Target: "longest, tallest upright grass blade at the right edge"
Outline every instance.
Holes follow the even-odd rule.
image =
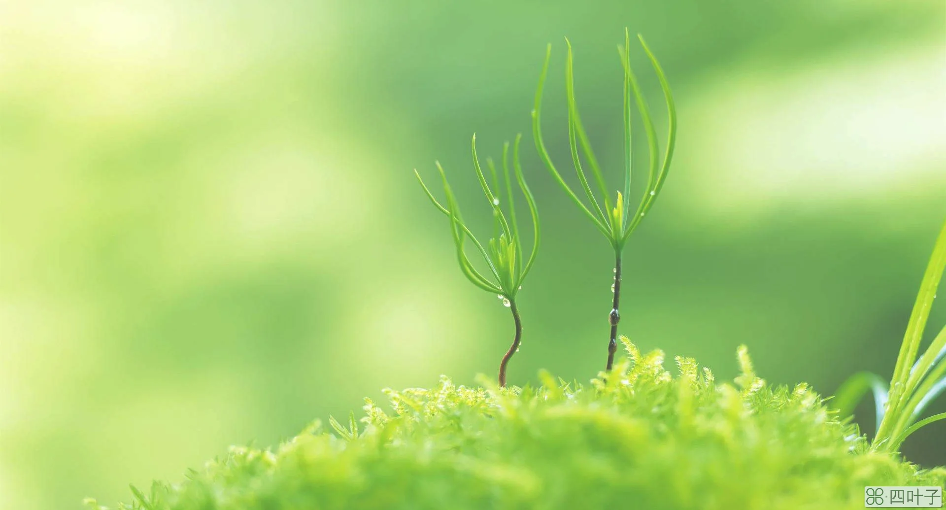
[[[902,407],[904,403],[902,397],[909,397],[909,370],[917,359],[923,330],[926,327],[927,319],[929,319],[930,309],[933,308],[933,299],[936,296],[944,268],[946,268],[946,222],[943,222],[942,230],[939,232],[936,245],[933,248],[933,255],[930,257],[930,262],[923,273],[920,292],[917,294],[917,301],[910,313],[910,321],[906,326],[900,354],[897,356],[890,395],[891,403],[896,406],[895,410],[899,411],[899,408]]]

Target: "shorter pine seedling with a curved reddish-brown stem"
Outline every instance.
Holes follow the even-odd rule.
[[[503,213],[502,208],[499,206],[501,186],[499,184],[496,166],[493,164],[492,160],[486,161],[493,178],[493,188],[496,189],[496,193],[494,193],[493,189],[486,183],[486,177],[480,166],[480,158],[477,155],[476,134],[473,134],[473,167],[476,170],[482,191],[486,195],[486,200],[493,210],[493,237],[490,238],[487,243],[488,248],[482,246],[480,241],[473,236],[473,233],[464,223],[463,217],[460,214],[460,206],[457,204],[456,197],[453,195],[450,185],[447,184],[447,175],[444,173],[444,168],[440,166],[440,162],[436,162],[436,166],[437,170],[440,171],[441,179],[444,181],[447,207],[437,202],[437,199],[430,193],[427,185],[424,185],[424,180],[421,179],[420,174],[416,169],[414,170],[414,175],[417,176],[417,181],[420,183],[421,187],[424,188],[424,192],[427,193],[430,202],[433,202],[434,206],[450,219],[450,234],[456,245],[460,269],[463,271],[466,278],[480,289],[497,294],[497,297],[502,300],[502,304],[513,313],[513,320],[516,323],[516,336],[513,339],[513,344],[509,347],[505,356],[502,357],[502,361],[499,362],[499,386],[503,387],[506,385],[506,366],[509,364],[509,360],[518,351],[519,343],[522,341],[522,322],[519,318],[519,311],[516,306],[516,295],[518,291],[522,289],[522,282],[525,280],[529,270],[532,269],[535,255],[538,253],[539,244],[538,209],[535,207],[535,199],[532,191],[529,190],[529,185],[526,184],[525,177],[522,175],[522,166],[519,164],[519,141],[521,139],[521,134],[516,136],[516,143],[513,146],[513,167],[516,173],[517,183],[522,194],[525,196],[526,203],[529,205],[529,212],[533,220],[534,241],[532,253],[529,255],[528,260],[526,260],[526,255],[522,251],[522,237],[519,235],[518,222],[516,219],[516,203],[513,196],[513,186],[509,177],[509,142],[506,142],[502,147],[502,175],[507,195],[505,200],[509,202],[509,220],[507,220],[505,213]],[[464,251],[464,240],[466,237],[469,237],[470,240],[473,241],[473,245],[476,246],[477,251],[485,260],[486,267],[489,269],[488,276],[478,271],[470,262],[469,257],[466,256]]]

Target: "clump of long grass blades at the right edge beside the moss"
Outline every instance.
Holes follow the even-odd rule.
[[[919,360],[917,358],[944,268],[946,222],[939,232],[933,255],[923,274],[920,293],[910,314],[890,383],[887,384],[876,374],[860,372],[838,388],[833,407],[842,416],[849,416],[867,391],[873,391],[877,433],[871,448],[875,450],[898,451],[910,434],[935,421],[946,419],[946,413],[939,413],[918,421],[926,406],[946,391],[946,326],[939,330]]]

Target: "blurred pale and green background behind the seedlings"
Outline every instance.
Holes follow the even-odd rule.
[[[739,343],[825,394],[888,377],[946,217],[941,0],[0,2],[0,508],[112,504],[385,386],[495,377],[508,310],[412,175],[443,162],[487,234],[472,132],[482,156],[526,133],[543,218],[510,381],[594,377],[611,255],[529,112],[552,42],[544,129],[569,169],[568,36],[617,188],[624,26],[679,136],[625,253],[622,333],[721,377]],[[908,458],[946,464],[942,437]]]

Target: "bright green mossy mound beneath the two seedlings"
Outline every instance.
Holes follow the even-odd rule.
[[[119,508],[837,510],[863,508],[867,484],[946,484],[944,468],[871,451],[806,384],[757,378],[745,348],[742,375],[717,383],[624,343],[629,359],[590,386],[542,373],[537,388],[387,391],[390,412],[367,400],[335,434],[316,422],[274,450],[231,448]]]

